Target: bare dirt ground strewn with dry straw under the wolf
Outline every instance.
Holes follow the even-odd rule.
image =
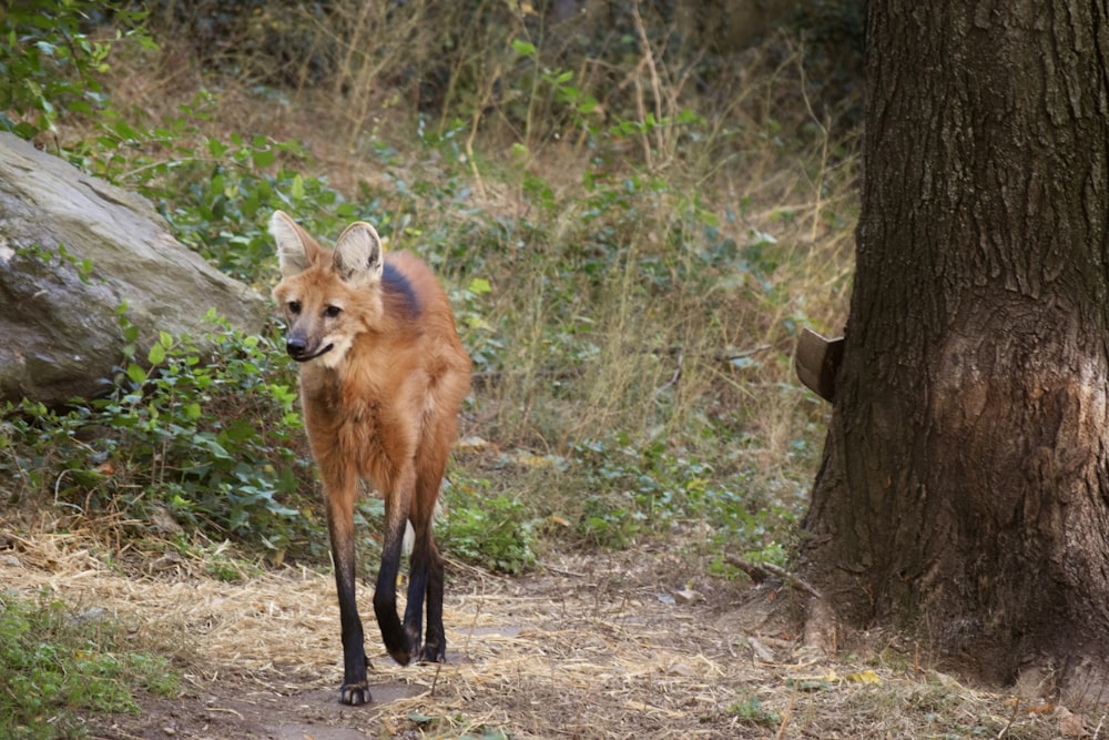
[[[90,716],[94,738],[1057,738],[1097,716],[974,690],[913,649],[806,653],[780,588],[710,578],[668,549],[548,556],[519,578],[452,565],[448,662],[403,668],[372,617],[374,702],[345,707],[328,574],[241,582],[201,564],[102,549],[72,534],[7,533],[0,582],[103,609],[162,646],[181,697]],[[372,614],[372,591],[359,600]],[[146,648],[144,648],[146,649]]]

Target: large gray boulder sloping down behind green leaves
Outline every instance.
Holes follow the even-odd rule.
[[[0,133],[0,398],[103,395],[123,358],[123,302],[146,346],[159,331],[200,337],[210,308],[246,332],[268,313],[149,201]]]

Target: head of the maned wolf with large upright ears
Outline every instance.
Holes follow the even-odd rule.
[[[269,232],[281,263],[273,296],[288,322],[285,348],[297,362],[319,359],[335,367],[381,315],[381,240],[358,221],[327,251],[282,211],[271,219]]]

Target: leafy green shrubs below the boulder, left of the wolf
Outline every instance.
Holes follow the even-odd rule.
[[[0,470],[21,488],[50,489],[89,514],[167,511],[181,524],[233,536],[279,558],[303,546],[311,524],[295,507],[312,489],[295,452],[302,427],[295,378],[272,337],[243,335],[210,315],[202,342],[162,333],[136,355],[128,341],[116,385],[67,412],[9,406]]]

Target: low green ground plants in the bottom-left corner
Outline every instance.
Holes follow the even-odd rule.
[[[0,592],[0,736],[79,738],[81,713],[136,712],[132,695],[180,693],[164,658],[126,645],[99,610],[73,614],[60,601],[31,604]]]

